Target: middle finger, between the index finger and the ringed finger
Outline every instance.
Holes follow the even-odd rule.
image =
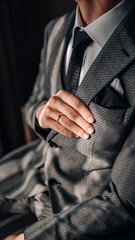
[[[94,128],[90,123],[88,123],[75,109],[67,105],[63,100],[58,97],[53,97],[50,101],[50,106],[46,106],[46,114],[55,119],[52,114],[55,111],[59,111],[71,121],[75,122],[80,128],[82,128],[86,133],[93,134]],[[55,109],[53,109],[55,108]],[[54,113],[55,114],[55,113]],[[79,135],[80,136],[80,135]],[[82,136],[82,133],[81,133]]]

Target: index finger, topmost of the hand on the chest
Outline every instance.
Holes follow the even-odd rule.
[[[94,117],[93,117],[92,113],[79,98],[77,98],[76,96],[74,96],[73,94],[71,94],[65,90],[60,90],[56,94],[56,96],[59,96],[59,98],[61,100],[63,100],[64,102],[66,102],[66,104],[68,104],[69,106],[74,108],[77,112],[79,112],[79,114],[86,121],[88,121],[89,123],[94,122]]]

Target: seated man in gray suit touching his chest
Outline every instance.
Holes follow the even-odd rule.
[[[26,104],[27,121],[42,140],[2,161],[6,168],[8,159],[12,166],[21,159],[10,175],[12,187],[4,184],[1,195],[25,197],[39,218],[16,240],[132,239],[135,4],[76,2],[76,11],[46,27],[39,75]],[[87,33],[90,44],[72,92],[76,29]],[[17,176],[24,179],[19,188]]]

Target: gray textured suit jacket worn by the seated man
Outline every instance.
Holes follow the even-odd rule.
[[[135,222],[135,9],[122,21],[87,72],[76,96],[92,111],[95,133],[70,139],[35,123],[35,110],[64,88],[64,53],[75,12],[49,23],[40,71],[26,118],[41,140],[44,190],[53,216],[25,231],[26,240],[131,239]],[[93,101],[118,77],[127,107]],[[44,142],[45,140],[45,142]],[[41,164],[42,165],[42,164]]]

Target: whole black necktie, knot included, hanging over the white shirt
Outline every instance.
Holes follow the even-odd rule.
[[[65,89],[74,94],[78,88],[80,71],[85,49],[92,43],[92,39],[77,27],[74,32],[73,51],[68,66]]]

